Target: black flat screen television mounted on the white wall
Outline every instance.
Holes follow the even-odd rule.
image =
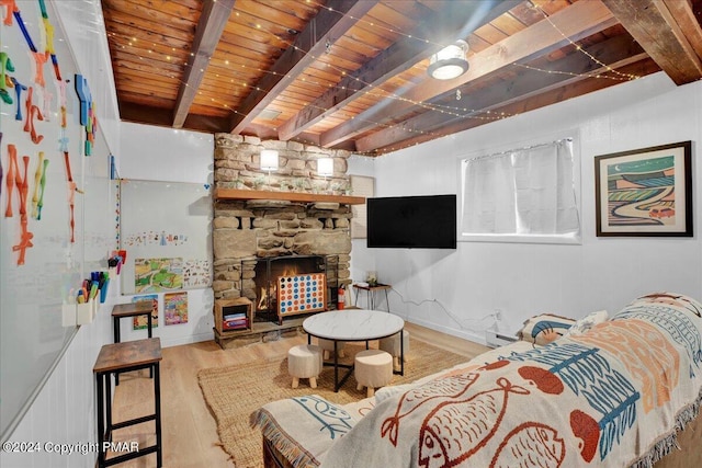
[[[369,248],[456,248],[455,195],[367,198],[366,207]]]

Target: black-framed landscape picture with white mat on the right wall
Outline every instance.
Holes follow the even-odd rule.
[[[597,236],[692,237],[692,141],[595,157]]]

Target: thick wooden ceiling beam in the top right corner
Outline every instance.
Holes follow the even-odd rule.
[[[688,0],[602,1],[676,84],[687,84],[702,78],[702,60],[690,43],[690,39],[700,41],[700,24],[694,20]],[[673,10],[669,10],[668,5]]]

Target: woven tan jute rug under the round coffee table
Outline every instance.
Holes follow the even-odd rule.
[[[347,343],[346,359],[349,362],[363,345]],[[467,357],[450,353],[422,341],[410,338],[405,375],[395,375],[393,385],[405,384],[442,368],[468,361]],[[346,369],[340,369],[344,370]],[[333,391],[333,367],[325,366],[317,388],[309,388],[303,379],[298,388],[291,388],[287,374],[287,357],[274,362],[256,362],[230,367],[202,369],[197,374],[200,388],[217,422],[217,433],[223,448],[231,456],[237,468],[263,466],[261,433],[251,429],[249,415],[263,404],[283,398],[319,395],[335,403],[350,403],[365,398],[365,389],[356,390],[353,375],[339,392]]]

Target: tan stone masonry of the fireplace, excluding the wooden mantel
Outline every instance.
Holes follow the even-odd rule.
[[[260,169],[262,149],[279,151],[279,169]],[[343,194],[349,191],[349,151],[294,141],[262,141],[256,137],[215,135],[216,187]],[[333,159],[333,174],[317,175],[317,160]],[[213,252],[215,299],[248,297],[254,304],[258,259],[282,255],[325,255],[338,262],[327,271],[328,284],[351,283],[352,213],[336,203],[293,203],[280,199],[215,199]],[[338,275],[338,276],[337,276]]]

